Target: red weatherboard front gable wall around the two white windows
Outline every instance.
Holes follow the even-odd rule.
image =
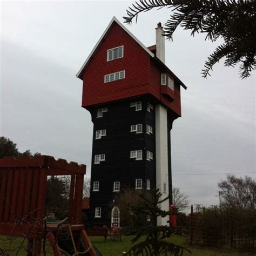
[[[124,45],[124,57],[107,62],[107,50]],[[113,24],[83,73],[82,106],[148,92],[150,56],[120,26]],[[125,79],[104,83],[104,76],[125,70]]]

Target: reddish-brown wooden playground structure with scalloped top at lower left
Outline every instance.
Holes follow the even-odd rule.
[[[85,165],[50,156],[0,159],[0,235],[27,238],[31,256],[41,255],[42,241],[48,240],[54,255],[60,256],[64,251],[58,239],[65,233],[72,242],[72,255],[96,256],[81,222],[85,172]],[[48,176],[70,176],[68,218],[63,224],[47,222]],[[81,240],[83,252],[79,252]]]

